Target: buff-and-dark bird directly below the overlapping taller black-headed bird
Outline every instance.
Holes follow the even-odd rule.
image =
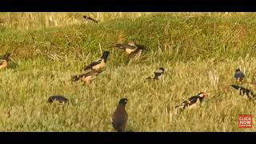
[[[86,84],[90,84],[94,78],[98,76],[98,74],[102,73],[104,70],[91,70],[85,74],[79,74],[72,77],[72,81],[76,82],[78,80],[81,80],[82,82],[85,82]]]

